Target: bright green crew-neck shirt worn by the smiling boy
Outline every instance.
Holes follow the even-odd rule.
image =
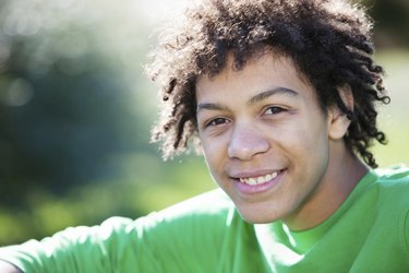
[[[245,223],[212,191],[0,249],[24,272],[409,272],[409,168],[369,171],[321,225]]]

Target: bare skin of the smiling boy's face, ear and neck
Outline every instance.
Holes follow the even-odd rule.
[[[318,107],[290,59],[268,51],[239,71],[231,59],[196,82],[199,136],[213,178],[250,223],[318,225],[368,171],[342,140],[350,121],[336,107]],[[348,88],[341,97],[353,106]],[[267,181],[242,180],[260,177]]]

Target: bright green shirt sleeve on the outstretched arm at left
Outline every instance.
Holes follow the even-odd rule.
[[[0,259],[25,273],[210,272],[197,269],[219,260],[229,205],[205,195],[135,221],[111,217],[98,226],[70,227],[0,248]]]

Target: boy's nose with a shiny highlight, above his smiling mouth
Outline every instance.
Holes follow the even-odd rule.
[[[230,158],[250,161],[253,156],[267,152],[269,142],[253,124],[236,124],[227,149]]]

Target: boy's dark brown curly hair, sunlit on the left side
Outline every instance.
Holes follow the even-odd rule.
[[[376,127],[375,104],[388,104],[384,70],[373,60],[372,21],[363,8],[346,0],[202,0],[166,26],[152,52],[147,72],[161,85],[163,108],[153,141],[172,157],[197,141],[195,82],[233,68],[263,48],[292,59],[315,88],[323,110],[338,106],[351,120],[344,140],[371,167],[373,141],[386,144]],[[353,110],[339,90],[349,86]],[[199,142],[197,142],[199,143]]]

